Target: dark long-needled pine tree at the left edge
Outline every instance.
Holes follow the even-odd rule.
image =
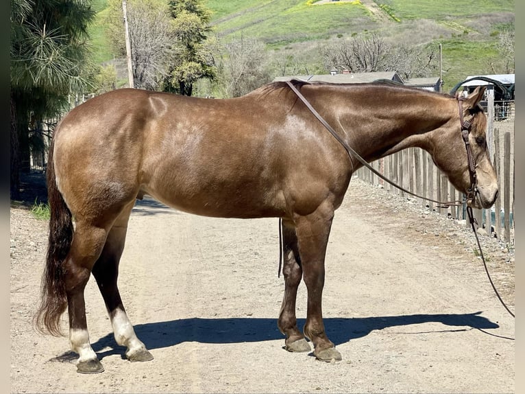
[[[11,0],[10,106],[11,196],[19,193],[19,170],[29,170],[31,136],[41,138],[44,119],[58,116],[72,91],[84,91],[88,0]]]

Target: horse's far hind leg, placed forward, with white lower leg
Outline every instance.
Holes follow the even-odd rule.
[[[153,360],[153,356],[137,338],[133,325],[127,318],[117,287],[119,261],[124,249],[127,221],[130,218],[133,205],[134,202],[123,210],[110,229],[102,253],[93,267],[93,276],[106,303],[115,340],[119,345],[127,347],[125,352],[127,359],[130,361],[149,361]]]

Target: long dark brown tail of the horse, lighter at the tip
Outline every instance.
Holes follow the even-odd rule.
[[[44,334],[60,336],[60,316],[67,308],[64,260],[73,240],[73,216],[57,187],[53,161],[54,145],[53,139],[49,147],[46,171],[47,200],[51,211],[49,244],[42,275],[40,308],[36,314],[36,329]]]

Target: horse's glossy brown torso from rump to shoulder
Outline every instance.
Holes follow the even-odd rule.
[[[236,218],[307,214],[331,194],[339,205],[349,181],[343,150],[293,97],[265,89],[223,100],[137,89],[94,97],[56,133],[65,200],[82,211],[149,194]]]

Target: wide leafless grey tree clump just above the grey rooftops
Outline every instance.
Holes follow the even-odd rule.
[[[439,68],[433,49],[387,42],[378,32],[355,36],[324,51],[326,67],[354,73],[397,71],[404,78],[425,77]]]

